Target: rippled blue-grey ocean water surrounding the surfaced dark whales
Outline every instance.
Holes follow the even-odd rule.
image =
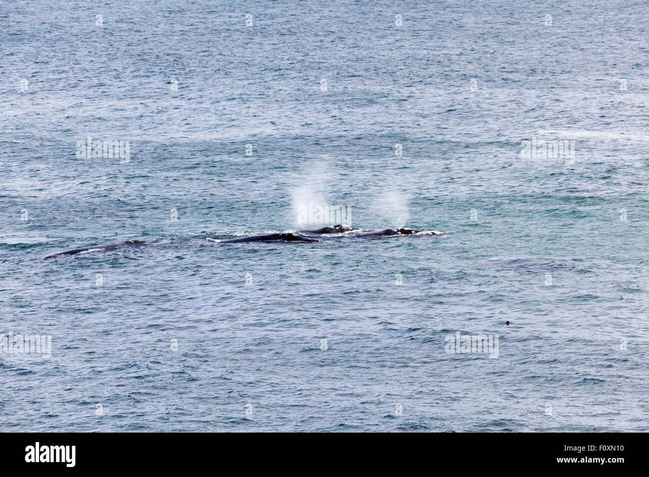
[[[649,430],[646,10],[0,3],[0,430]]]

